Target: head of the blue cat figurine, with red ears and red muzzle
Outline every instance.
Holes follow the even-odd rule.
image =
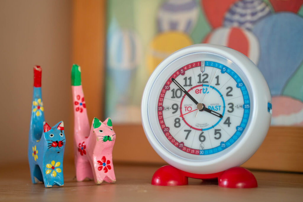
[[[47,142],[48,150],[61,150],[65,145],[63,121],[50,127],[46,122],[43,123],[44,138]]]

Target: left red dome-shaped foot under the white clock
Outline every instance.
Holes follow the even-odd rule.
[[[188,184],[188,177],[185,177],[180,170],[170,165],[160,167],[152,176],[152,185],[157,186],[178,186]]]

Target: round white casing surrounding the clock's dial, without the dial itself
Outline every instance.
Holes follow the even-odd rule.
[[[251,122],[246,126],[245,131],[241,135],[243,137],[239,139],[238,143],[226,154],[209,161],[193,161],[169,152],[160,144],[151,129],[151,124],[157,123],[149,123],[148,119],[147,106],[149,94],[160,72],[172,61],[175,61],[181,56],[197,52],[215,53],[231,60],[235,65],[241,68],[247,77],[252,93],[249,95],[252,108],[250,112]],[[231,167],[240,166],[257,151],[267,134],[271,121],[271,114],[268,112],[268,102],[271,103],[271,95],[265,78],[256,65],[245,55],[221,45],[191,45],[169,55],[155,68],[149,77],[142,96],[142,125],[149,143],[157,154],[168,164],[189,173],[212,174],[225,171]]]

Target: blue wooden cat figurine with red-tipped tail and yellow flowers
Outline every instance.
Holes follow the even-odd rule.
[[[32,116],[28,137],[28,162],[32,183],[43,181],[45,187],[63,186],[65,135],[63,121],[50,127],[44,121],[41,98],[41,67],[34,66]]]

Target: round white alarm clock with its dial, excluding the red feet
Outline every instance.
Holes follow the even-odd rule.
[[[261,145],[271,121],[271,95],[245,55],[197,44],[155,68],[141,115],[149,143],[168,164],[212,174],[243,164]]]

